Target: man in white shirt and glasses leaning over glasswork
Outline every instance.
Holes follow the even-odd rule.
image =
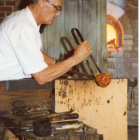
[[[74,54],[59,63],[40,51],[40,25],[52,25],[61,10],[62,0],[31,0],[25,9],[4,19],[0,25],[0,81],[34,77],[42,85],[65,74],[92,53],[88,41],[76,46]]]

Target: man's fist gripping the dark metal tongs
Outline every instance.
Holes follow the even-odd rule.
[[[74,57],[77,63],[84,61],[92,53],[92,47],[90,43],[85,40],[80,45],[75,47]]]

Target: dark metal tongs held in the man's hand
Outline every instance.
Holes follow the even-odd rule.
[[[73,38],[74,38],[76,44],[79,45],[80,42],[78,41],[78,39],[77,39],[77,37],[76,37],[76,35],[75,35],[74,30],[77,32],[77,34],[78,34],[78,36],[79,36],[81,42],[83,42],[84,39],[83,39],[81,33],[79,32],[79,30],[78,30],[77,28],[72,28],[72,29],[71,29],[71,33],[72,33],[72,35],[73,35]],[[99,72],[99,73],[102,73],[101,70],[100,70],[100,68],[98,67],[97,63],[95,62],[93,56],[90,55],[90,57],[92,58],[93,63],[94,63],[94,65],[96,66],[98,72]],[[84,60],[84,61],[86,62],[86,64],[88,65],[88,67],[89,67],[89,69],[90,69],[90,71],[91,71],[91,73],[92,73],[93,80],[96,82],[96,84],[98,84],[97,81],[96,81],[96,78],[95,78],[94,72],[93,72],[93,70],[92,70],[92,68],[91,68],[91,66],[90,66],[90,64],[89,64],[88,58],[87,58],[86,60]]]

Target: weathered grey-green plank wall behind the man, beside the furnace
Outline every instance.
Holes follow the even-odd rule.
[[[78,28],[93,48],[92,56],[102,71],[107,70],[106,55],[106,0],[63,0],[61,17],[43,30],[43,51],[54,59],[64,60],[73,54],[76,43],[71,29]],[[92,60],[92,68],[96,72]],[[90,73],[86,64],[76,69]]]

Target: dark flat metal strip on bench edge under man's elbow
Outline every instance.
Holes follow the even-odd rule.
[[[10,80],[6,81],[6,91],[14,90],[36,90],[36,89],[53,89],[54,81],[44,85],[38,85],[34,79]]]

